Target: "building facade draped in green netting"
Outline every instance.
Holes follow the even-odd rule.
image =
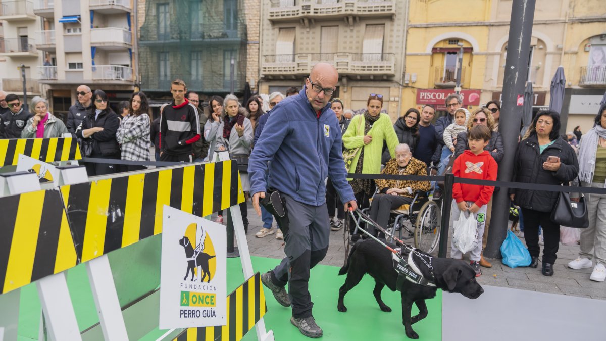
[[[250,2],[139,1],[141,89],[155,100],[169,100],[171,79],[181,78],[188,90],[205,96],[242,95]]]

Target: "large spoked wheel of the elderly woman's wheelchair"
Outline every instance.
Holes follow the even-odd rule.
[[[440,240],[442,212],[435,201],[427,201],[419,209],[415,223],[415,248],[430,254]]]

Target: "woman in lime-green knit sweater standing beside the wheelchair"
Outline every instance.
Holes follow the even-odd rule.
[[[383,141],[387,143],[391,157],[395,157],[395,147],[399,143],[398,135],[393,130],[389,116],[381,113],[382,107],[383,96],[371,93],[366,101],[367,110],[362,115],[351,118],[351,123],[343,135],[343,144],[347,149],[361,148],[353,158],[348,170],[350,173],[381,173]],[[375,181],[354,179],[350,181],[350,184],[359,207],[367,208],[368,199],[375,193]]]

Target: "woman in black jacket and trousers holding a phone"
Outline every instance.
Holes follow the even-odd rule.
[[[579,172],[579,161],[572,147],[559,135],[560,115],[539,112],[530,126],[530,135],[518,144],[513,166],[513,181],[532,184],[568,184]],[[548,158],[553,157],[548,161]],[[511,189],[511,200],[522,208],[524,238],[532,257],[531,268],[538,266],[539,225],[543,229],[543,269],[553,275],[560,241],[560,226],[551,221],[558,192]]]

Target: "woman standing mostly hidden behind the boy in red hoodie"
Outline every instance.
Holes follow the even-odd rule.
[[[497,164],[503,160],[503,156],[505,155],[505,148],[503,146],[503,139],[501,137],[501,133],[494,129],[494,116],[492,113],[486,108],[478,108],[473,110],[471,115],[467,120],[467,132],[462,132],[457,135],[456,141],[457,143],[454,145],[454,157],[458,157],[463,154],[466,149],[469,149],[467,144],[467,133],[473,126],[487,126],[490,129],[490,141],[488,141],[488,145],[484,147],[484,150],[488,150],[490,156],[494,158]],[[490,228],[490,216],[492,213],[492,198],[488,201],[486,206],[486,223],[484,225],[484,235],[482,237],[482,250],[486,248],[486,241],[488,238],[488,229]],[[484,268],[491,268],[492,265],[490,262],[485,260],[484,255],[480,255],[480,265],[484,266]]]

